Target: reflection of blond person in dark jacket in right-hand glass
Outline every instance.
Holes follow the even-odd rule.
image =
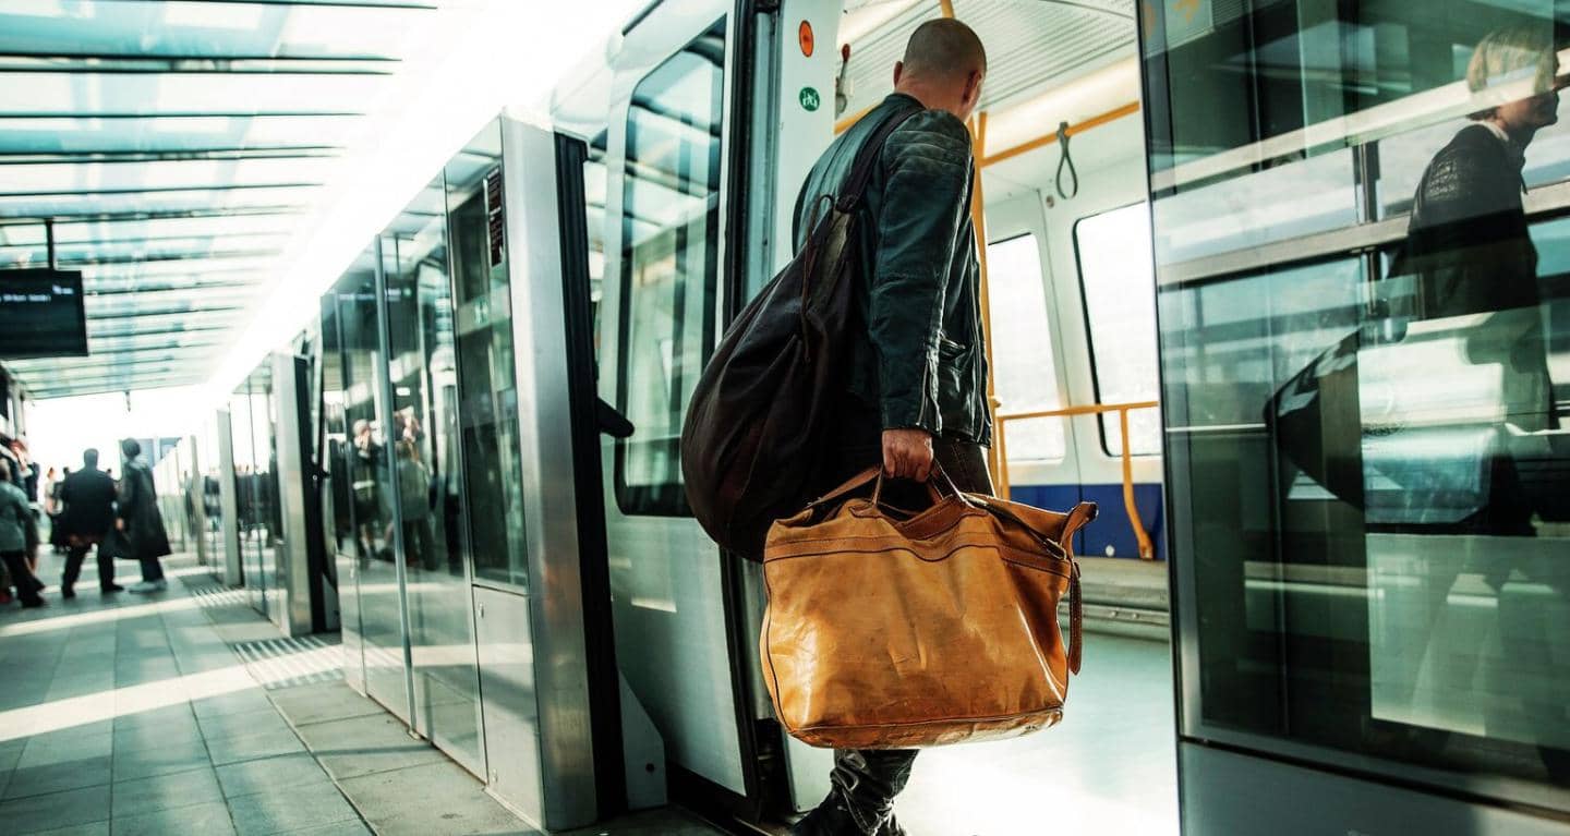
[[[1506,423],[1526,433],[1554,425],[1521,166],[1537,130],[1559,118],[1556,67],[1542,27],[1499,30],[1477,44],[1466,69],[1471,91],[1509,93],[1509,85],[1521,85],[1523,96],[1473,113],[1474,124],[1433,157],[1413,198],[1405,249],[1391,268],[1393,278],[1411,282],[1410,304],[1399,312],[1415,320],[1488,314],[1427,333],[1432,339],[1443,328],[1470,367],[1499,370],[1496,406]],[[1484,507],[1455,532],[1531,535],[1532,503],[1513,464],[1502,450],[1495,453],[1485,466]]]

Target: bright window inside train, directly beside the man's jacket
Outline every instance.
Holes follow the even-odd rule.
[[[1041,271],[1041,242],[1033,234],[986,248],[988,304],[992,314],[992,369],[1000,413],[1063,406],[1052,325]],[[1063,419],[1010,422],[1011,461],[1060,461],[1068,449]]]

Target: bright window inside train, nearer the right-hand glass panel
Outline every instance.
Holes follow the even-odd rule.
[[[1151,215],[1138,202],[1074,224],[1090,333],[1091,372],[1101,403],[1157,398],[1156,271],[1151,257]],[[1123,455],[1118,416],[1101,416],[1101,445]],[[1156,409],[1129,411],[1129,452],[1162,452],[1162,422]]]

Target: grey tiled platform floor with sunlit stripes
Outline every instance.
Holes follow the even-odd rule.
[[[60,563],[39,566],[49,607],[0,610],[0,833],[534,833],[333,681],[338,648],[239,656],[279,634],[193,558],[165,563],[165,593],[108,598],[89,560],[75,601],[57,593]],[[656,811],[586,833],[717,831]]]

